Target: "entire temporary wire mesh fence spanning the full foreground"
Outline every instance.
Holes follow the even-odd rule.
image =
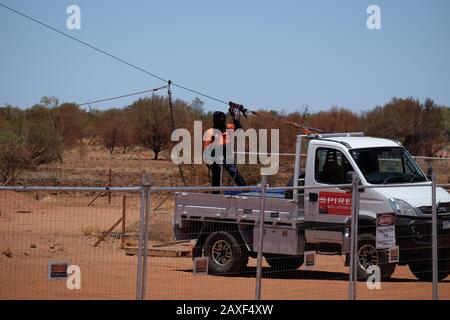
[[[1,187],[0,298],[449,299],[447,187]]]

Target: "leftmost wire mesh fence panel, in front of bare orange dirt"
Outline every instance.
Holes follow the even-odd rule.
[[[108,195],[0,190],[0,299],[134,299],[137,260],[122,245],[136,246],[140,196]],[[71,281],[48,279],[52,261],[74,266]]]

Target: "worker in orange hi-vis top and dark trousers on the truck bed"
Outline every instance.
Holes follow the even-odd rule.
[[[221,111],[216,111],[213,114],[213,128],[208,129],[206,132],[206,139],[203,144],[203,149],[205,149],[209,144],[215,141],[216,138],[220,139],[219,145],[223,146],[223,161],[222,163],[215,163],[213,162],[211,165],[211,171],[212,171],[212,181],[211,186],[213,187],[219,187],[220,186],[220,178],[221,178],[221,170],[222,168],[225,168],[230,176],[233,178],[234,182],[238,186],[246,186],[244,178],[240,175],[236,164],[228,164],[226,163],[226,145],[229,143],[229,137],[227,133],[228,130],[236,130],[241,129],[241,122],[239,120],[240,111],[237,108],[230,108],[230,114],[233,117],[233,123],[226,123],[226,115],[225,113]],[[219,130],[222,135],[219,137],[214,136],[214,129]],[[214,152],[214,151],[213,151]],[[214,154],[213,154],[214,156]],[[217,193],[217,192],[216,192]]]

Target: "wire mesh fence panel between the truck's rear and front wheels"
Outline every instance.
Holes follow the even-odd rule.
[[[345,227],[344,223],[318,221],[321,191],[324,189],[299,189],[299,206],[292,202],[294,209],[287,209],[286,202],[292,201],[293,190],[284,187],[269,190],[268,197],[276,201],[267,208],[272,223],[266,225],[265,232],[264,299],[348,299],[349,273],[345,253],[340,247]],[[318,195],[315,201],[307,203],[315,206],[317,214],[305,216],[304,197],[310,193]],[[312,207],[309,210],[314,211]],[[305,232],[305,228],[308,231]],[[319,245],[318,241],[324,238],[329,239],[328,244]]]

